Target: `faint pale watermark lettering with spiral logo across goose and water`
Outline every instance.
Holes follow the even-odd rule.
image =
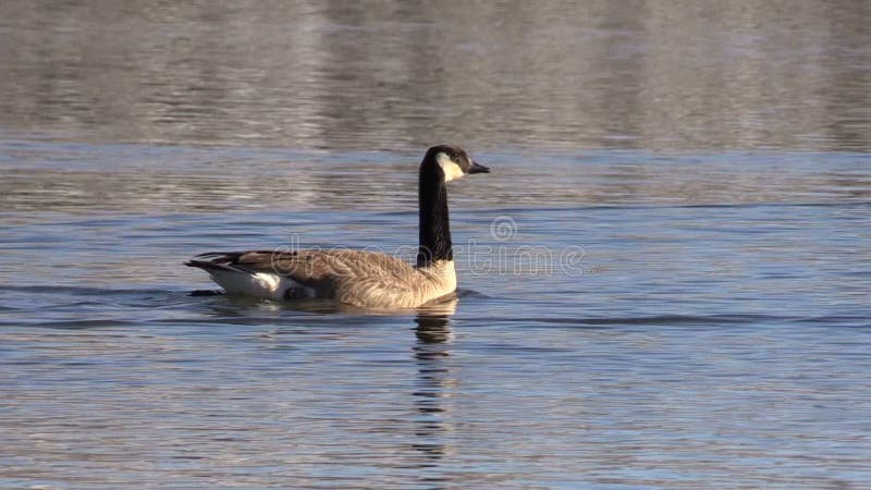
[[[506,274],[506,275],[580,275],[584,273],[584,248],[578,245],[568,245],[552,248],[545,245],[517,243],[518,226],[515,220],[507,216],[500,216],[490,222],[490,240],[478,241],[471,238],[465,244],[453,244],[454,260],[461,273],[474,275]],[[298,250],[324,252],[318,259],[314,255],[295,254]],[[298,234],[291,235],[291,243],[286,247],[278,248],[272,254],[272,267],[277,272],[290,272],[306,268],[307,275],[343,274],[352,273],[348,266],[342,260],[344,254],[358,252],[372,253],[366,260],[367,273],[390,273],[391,264],[401,260],[415,264],[418,253],[417,246],[403,245],[392,249],[383,247],[331,247],[322,248],[300,247]]]

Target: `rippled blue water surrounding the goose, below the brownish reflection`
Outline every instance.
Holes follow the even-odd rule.
[[[414,245],[410,157],[297,152],[297,182],[332,187],[244,195],[228,177],[219,193],[212,175],[200,197],[185,179],[200,160],[262,161],[245,171],[279,182],[297,168],[256,148],[2,151],[38,157],[16,160],[2,215],[7,486],[868,481],[871,203],[849,195],[868,192],[863,155],[554,154],[537,164],[557,170],[517,196],[528,161],[484,152],[494,172],[451,188],[453,310],[372,316],[192,297],[213,285],[181,262]],[[152,152],[173,166],[124,162]],[[93,197],[25,183],[57,162],[68,185],[130,181],[87,209]],[[614,172],[626,162],[646,179]],[[397,183],[360,188],[360,167]],[[794,184],[752,177],[773,167]],[[735,192],[724,172],[755,192],[717,197]],[[137,200],[169,182],[173,198]]]

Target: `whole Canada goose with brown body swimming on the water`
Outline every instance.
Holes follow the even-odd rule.
[[[387,254],[351,249],[210,252],[185,265],[208,272],[229,294],[415,308],[456,291],[445,183],[488,172],[461,148],[440,145],[427,151],[418,180],[420,246],[415,267]]]

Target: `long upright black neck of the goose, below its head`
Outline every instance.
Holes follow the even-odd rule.
[[[418,186],[420,248],[417,267],[427,267],[436,260],[453,260],[451,225],[447,221],[447,186],[441,169],[422,166]]]

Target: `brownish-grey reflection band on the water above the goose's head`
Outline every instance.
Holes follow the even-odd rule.
[[[109,142],[869,149],[866,1],[0,4],[0,125]]]

